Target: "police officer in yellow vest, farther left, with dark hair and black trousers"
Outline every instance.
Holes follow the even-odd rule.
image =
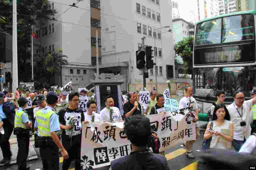
[[[28,119],[28,114],[24,110],[27,107],[28,100],[25,97],[20,97],[18,100],[19,109],[16,111],[14,120],[14,135],[17,135],[18,154],[17,163],[18,170],[29,169],[27,166],[27,158],[29,152],[29,131],[32,124]]]

